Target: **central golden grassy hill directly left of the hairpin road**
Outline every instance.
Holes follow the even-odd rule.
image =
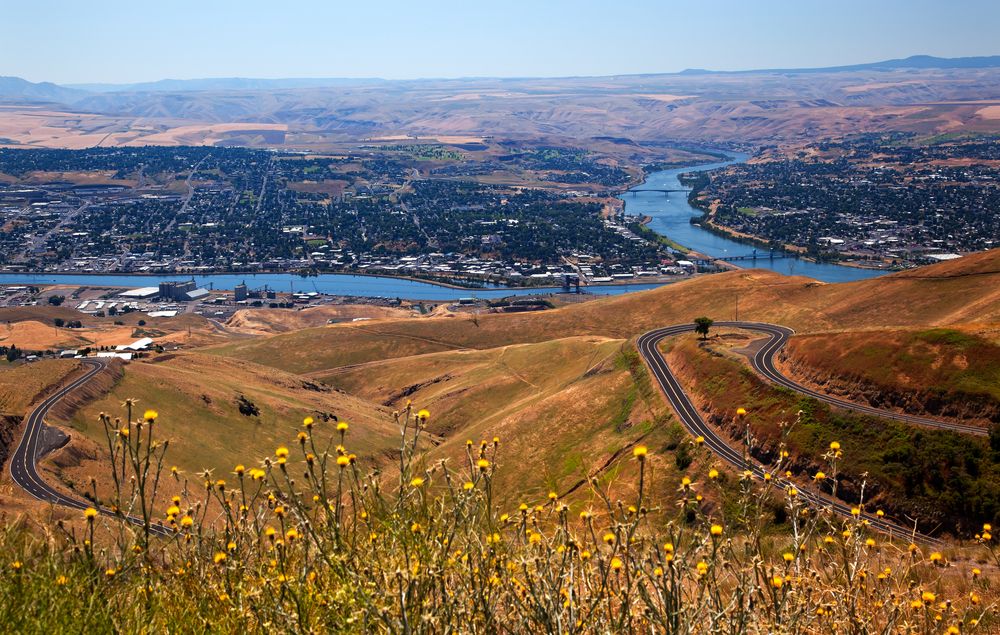
[[[655,491],[672,490],[689,468],[673,453],[685,434],[630,350],[624,340],[572,337],[372,362],[318,377],[395,408],[412,400],[430,409],[427,431],[439,445],[428,460],[461,463],[467,441],[501,439],[502,455],[524,469],[498,477],[499,500],[516,504],[517,492],[538,502],[554,491],[583,506],[590,499],[580,495],[589,489],[580,486],[589,477],[619,489],[622,470],[630,471],[622,459],[637,443],[663,450],[650,482]]]

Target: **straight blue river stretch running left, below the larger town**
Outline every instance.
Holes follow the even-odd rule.
[[[181,274],[164,276],[129,276],[119,274],[24,274],[0,273],[0,284],[68,284],[80,286],[108,287],[155,287],[163,280],[188,280],[191,276]],[[535,287],[531,289],[452,289],[427,282],[383,278],[379,276],[351,276],[327,273],[313,278],[303,278],[288,273],[261,274],[211,274],[194,276],[198,286],[214,286],[216,289],[232,289],[246,282],[251,289],[267,286],[278,292],[295,291],[307,293],[318,291],[331,295],[348,295],[364,298],[407,298],[418,300],[447,301],[459,298],[503,298],[512,295],[532,295],[555,293],[558,287]],[[618,295],[630,291],[655,289],[658,284],[623,284],[587,287],[587,292],[597,295]]]

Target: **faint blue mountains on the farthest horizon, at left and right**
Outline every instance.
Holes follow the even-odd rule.
[[[931,55],[913,55],[911,57],[872,62],[869,64],[853,64],[849,66],[830,66],[826,68],[781,68],[748,71],[713,71],[705,69],[687,69],[680,73],[659,73],[649,76],[691,76],[691,75],[722,75],[722,74],[804,74],[804,73],[842,73],[852,71],[897,71],[906,69],[977,69],[1000,67],[1000,55],[982,57],[934,57]],[[637,75],[639,76],[639,75]],[[624,76],[618,76],[624,77]],[[472,78],[469,78],[472,79]],[[477,78],[491,79],[491,78]],[[531,79],[531,78],[518,78]],[[434,80],[441,81],[441,80]],[[455,80],[459,81],[459,80]],[[3,101],[40,101],[72,104],[88,96],[98,93],[178,93],[193,91],[261,91],[288,90],[302,88],[337,88],[352,86],[377,86],[394,83],[392,80],[378,78],[285,78],[258,79],[244,77],[223,77],[205,79],[162,79],[155,82],[135,84],[67,84],[61,86],[51,82],[33,83],[19,77],[0,77],[0,100]]]

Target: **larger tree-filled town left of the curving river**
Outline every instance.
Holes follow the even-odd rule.
[[[358,148],[322,157],[0,149],[9,177],[0,182],[0,271],[346,272],[550,286],[694,270],[633,231],[642,219],[605,191],[629,174],[583,151],[518,148],[476,162],[433,145]],[[522,165],[541,185],[473,180],[495,163]]]

